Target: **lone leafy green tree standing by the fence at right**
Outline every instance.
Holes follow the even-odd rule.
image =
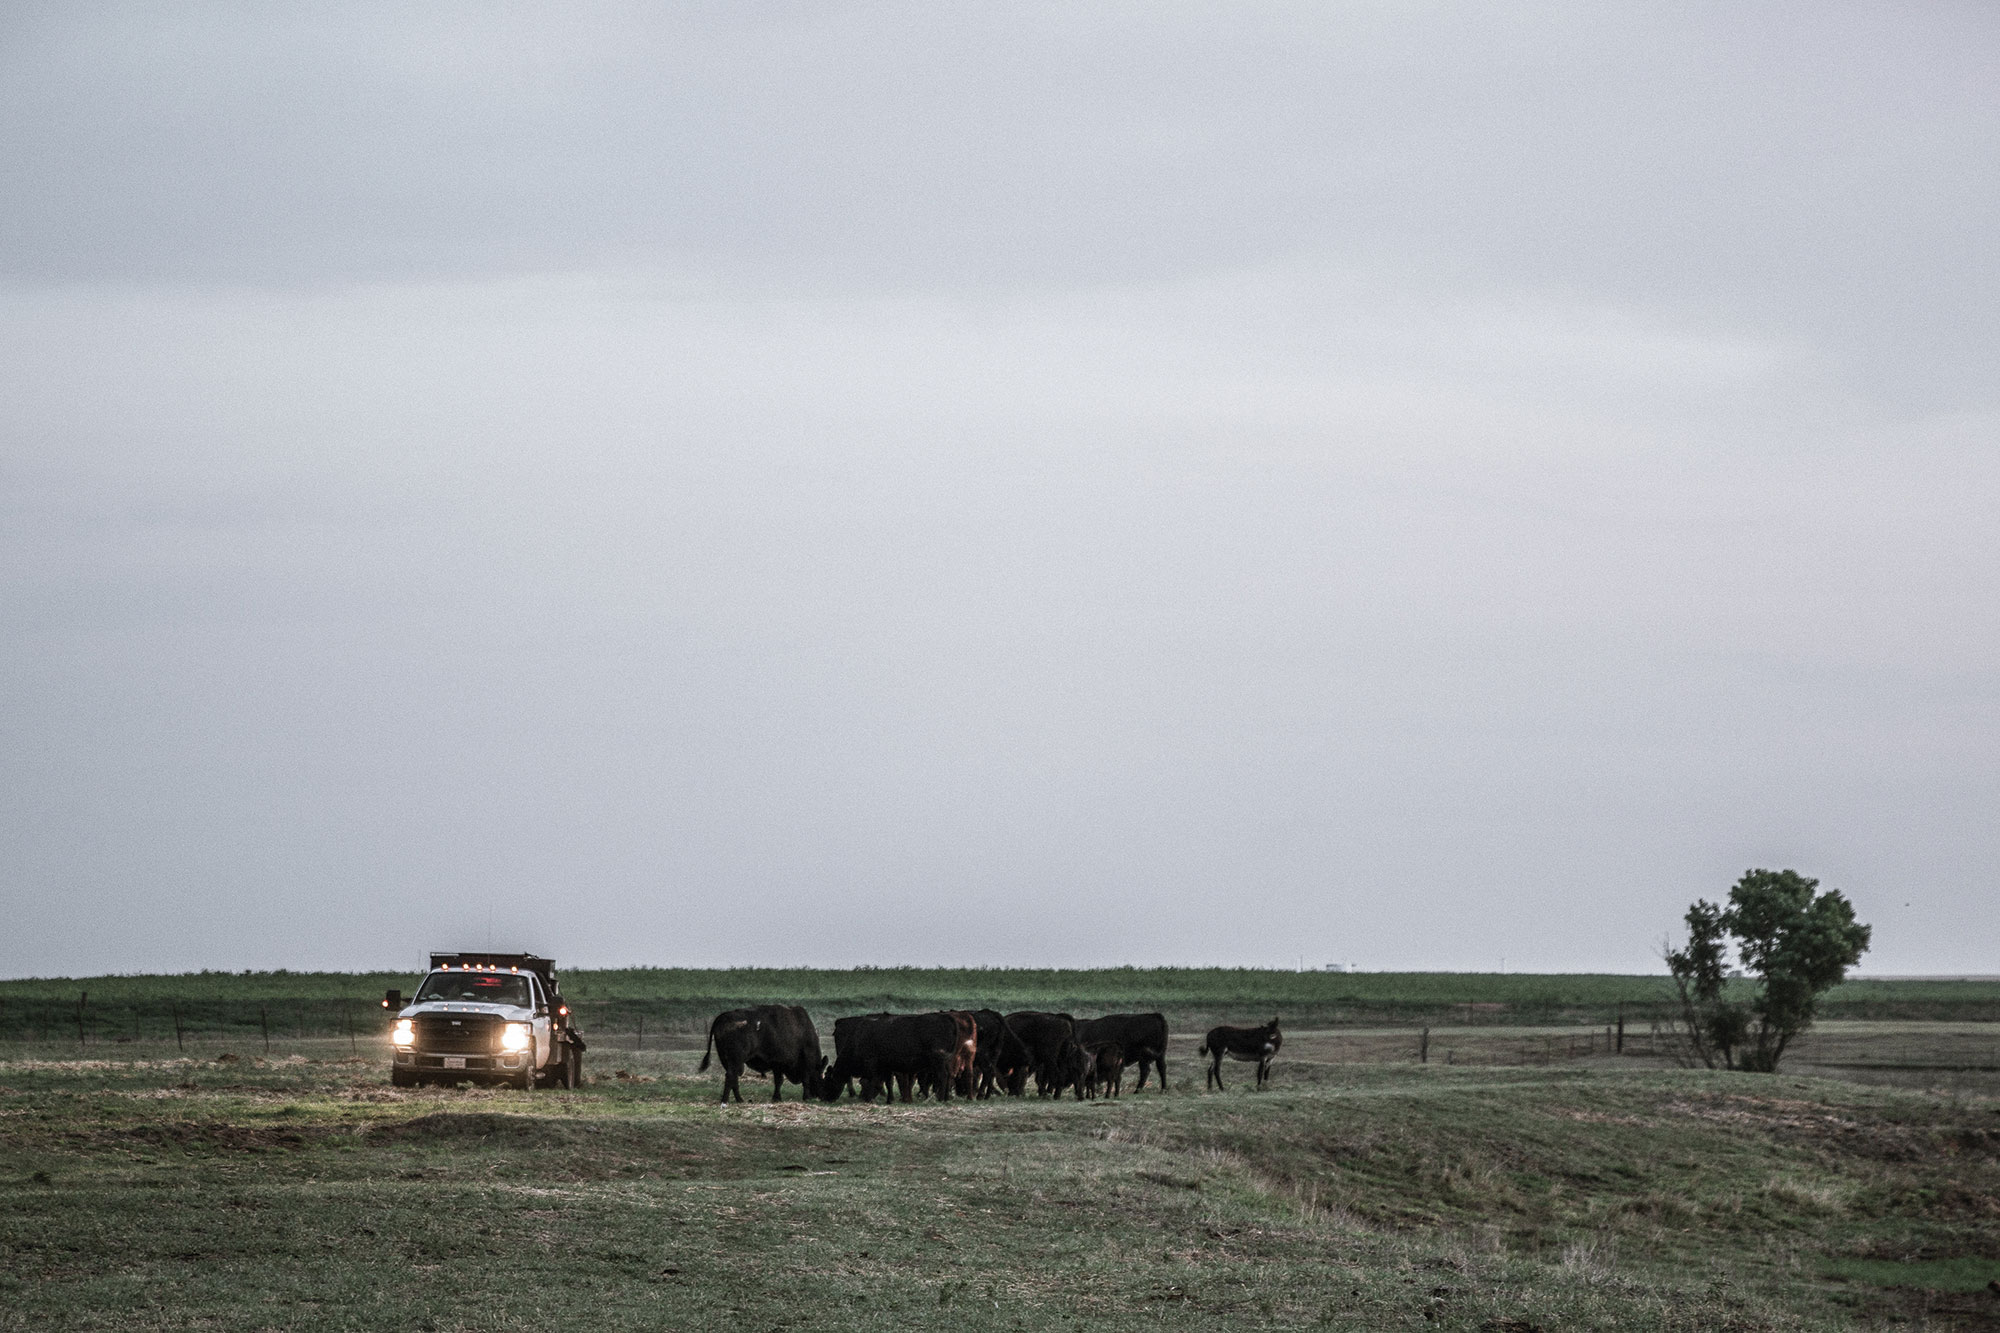
[[[1812,1027],[1820,995],[1868,951],[1868,927],[1838,891],[1796,871],[1746,871],[1730,905],[1696,899],[1688,945],[1668,951],[1694,1057],[1710,1069],[1778,1069]],[[1728,985],[1730,953],[1754,979]]]

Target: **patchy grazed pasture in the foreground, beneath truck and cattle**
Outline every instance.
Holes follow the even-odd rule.
[[[1962,1065],[1988,1031],[1818,1041]],[[2000,1323],[1986,1091],[1478,1063],[1556,1035],[1418,1065],[1298,1031],[1266,1093],[1200,1093],[1180,1037],[1166,1097],[728,1109],[688,1037],[578,1093],[390,1089],[344,1039],[0,1045],[0,1329]]]

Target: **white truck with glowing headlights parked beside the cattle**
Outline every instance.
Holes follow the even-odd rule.
[[[580,1087],[584,1037],[562,1003],[556,965],[532,953],[434,953],[404,1003],[390,991],[390,1083]]]

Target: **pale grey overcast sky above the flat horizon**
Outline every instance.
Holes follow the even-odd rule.
[[[2000,939],[2000,12],[12,6],[0,975]]]

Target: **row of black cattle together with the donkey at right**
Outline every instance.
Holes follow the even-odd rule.
[[[1262,1027],[1216,1027],[1202,1041],[1210,1059],[1208,1085],[1222,1087],[1222,1059],[1254,1061],[1264,1087],[1284,1037],[1278,1019]],[[782,1101],[784,1081],[806,1097],[840,1101],[852,1087],[862,1101],[900,1095],[1020,1097],[1034,1079],[1040,1097],[1074,1093],[1118,1097],[1126,1069],[1138,1071],[1134,1091],[1156,1075],[1166,1091],[1166,1017],[1112,1013],[1072,1019],[1066,1013],[942,1009],[938,1013],[870,1013],[834,1019],[834,1059],[820,1053],[820,1033],[798,1005],[758,1005],[718,1013],[708,1025],[708,1061],[722,1063],[722,1101],[742,1101],[738,1079],[748,1069],[770,1075],[770,1099]]]

